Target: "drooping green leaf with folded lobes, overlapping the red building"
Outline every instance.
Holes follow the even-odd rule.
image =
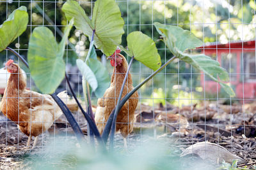
[[[154,23],[157,31],[161,36],[163,36],[164,43],[168,46],[169,50],[184,62],[188,62],[193,67],[204,71],[212,80],[219,82],[221,87],[230,95],[235,96],[232,88],[224,83],[223,81],[228,81],[229,76],[225,69],[220,67],[220,63],[216,60],[212,60],[204,54],[200,55],[189,55],[184,53],[184,50],[196,48],[201,46],[202,42],[197,39],[189,31],[184,31],[180,27],[175,27],[172,25],[163,25],[159,23]]]

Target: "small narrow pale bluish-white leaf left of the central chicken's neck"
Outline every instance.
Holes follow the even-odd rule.
[[[81,59],[76,60],[76,65],[77,65],[78,69],[81,71],[81,74],[84,76],[86,81],[88,81],[88,83],[92,87],[92,90],[93,91],[96,90],[98,87],[98,82],[97,82],[97,79],[96,79],[92,69],[90,69],[90,67],[87,66],[87,64],[85,62],[83,62],[83,60],[81,60]]]

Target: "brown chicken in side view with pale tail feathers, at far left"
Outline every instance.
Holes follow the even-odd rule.
[[[38,135],[47,131],[54,120],[61,116],[62,111],[51,96],[26,90],[24,75],[13,60],[6,62],[5,69],[11,74],[1,101],[1,111],[18,125],[20,131],[29,136],[27,148],[30,146],[31,136],[35,136],[32,147],[35,148]],[[60,92],[58,96],[67,99],[67,92]]]

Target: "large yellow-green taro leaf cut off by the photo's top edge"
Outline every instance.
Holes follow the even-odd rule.
[[[90,20],[76,1],[68,0],[62,7],[68,20],[75,18],[74,25],[89,37],[95,30],[94,43],[105,55],[112,55],[124,34],[124,20],[114,0],[97,0]],[[115,43],[113,43],[115,41]]]

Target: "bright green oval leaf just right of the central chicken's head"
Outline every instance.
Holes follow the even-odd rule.
[[[161,67],[161,58],[157,53],[156,44],[153,39],[140,31],[131,32],[127,36],[128,54],[132,54],[134,59],[142,62],[145,66],[156,71]],[[124,47],[121,47],[124,50]],[[132,57],[131,56],[131,57]]]

